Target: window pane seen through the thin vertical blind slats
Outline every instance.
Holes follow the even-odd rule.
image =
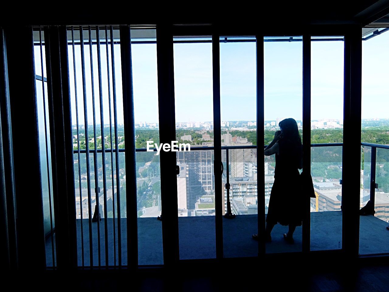
[[[99,72],[97,37],[100,38],[101,57],[101,89],[102,104],[100,107]],[[110,30],[107,31],[108,44],[105,43],[105,29],[100,29],[97,36],[96,30],[91,30],[92,46],[89,45],[89,32],[83,31],[84,38],[84,65],[85,88],[82,83],[82,59],[80,32],[74,29],[74,39],[71,30],[68,30],[68,62],[70,78],[70,96],[72,109],[73,147],[74,147],[74,171],[75,171],[75,200],[77,222],[77,247],[78,264],[91,265],[90,248],[93,253],[93,266],[105,265],[105,238],[108,243],[108,265],[119,264],[119,249],[121,249],[121,264],[127,264],[126,243],[126,175],[124,164],[124,128],[123,128],[123,98],[121,89],[121,58],[120,45],[114,44],[113,53],[115,61],[116,107],[114,114],[114,79],[112,67],[112,52],[110,46]],[[118,40],[119,31],[113,30],[114,40]],[[72,40],[75,42],[74,54]],[[108,46],[108,47],[107,47]],[[108,49],[108,53],[107,53]],[[92,63],[91,56],[92,53]],[[107,64],[108,60],[108,64]],[[75,70],[74,70],[75,66]],[[93,66],[93,70],[92,67]],[[92,98],[92,76],[94,102]],[[77,86],[77,88],[76,88]],[[77,89],[77,90],[76,90]],[[84,103],[84,90],[86,93]],[[76,99],[77,96],[77,99]],[[76,107],[77,106],[77,107]],[[95,116],[93,116],[93,106]],[[86,112],[86,116],[85,113]],[[103,116],[103,120],[101,119]],[[78,120],[77,120],[78,119]],[[78,128],[77,128],[78,123]],[[113,149],[115,146],[115,124],[117,126],[118,160]],[[88,135],[86,133],[88,132]],[[87,167],[86,148],[89,148],[89,168]],[[104,151],[104,161],[103,153]],[[112,152],[111,152],[112,149]],[[80,156],[78,151],[80,150]],[[96,154],[97,152],[97,154]],[[96,155],[96,157],[95,157]],[[96,165],[95,165],[96,162]],[[118,172],[116,172],[116,169]],[[81,183],[80,183],[81,181]],[[88,183],[89,181],[89,183]],[[90,200],[89,200],[90,195]],[[106,199],[105,199],[106,196]],[[97,203],[98,202],[98,203]],[[98,207],[96,208],[96,204]],[[120,213],[118,208],[120,205]],[[98,218],[98,210],[102,220]],[[107,215],[105,216],[105,212]],[[119,214],[118,214],[119,213]],[[91,235],[89,237],[89,219],[91,222]],[[123,218],[123,219],[121,219]],[[120,224],[120,229],[119,229]],[[107,233],[105,233],[107,225]],[[99,228],[100,227],[100,228]],[[119,233],[121,242],[119,241]],[[99,236],[100,235],[100,240]],[[99,243],[100,241],[100,243]],[[82,253],[83,248],[83,253]]]

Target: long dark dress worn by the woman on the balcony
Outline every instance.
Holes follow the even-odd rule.
[[[302,225],[300,172],[302,146],[279,139],[279,154],[275,154],[274,183],[270,192],[266,222],[281,225]]]

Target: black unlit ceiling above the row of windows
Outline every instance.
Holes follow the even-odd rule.
[[[389,0],[315,0],[312,2],[56,2],[55,7],[33,4],[8,9],[2,25],[53,24],[209,24],[307,25],[360,23],[363,26],[389,13]],[[104,2],[105,3],[105,2]],[[61,7],[63,5],[63,7]],[[220,7],[216,7],[219,5]]]

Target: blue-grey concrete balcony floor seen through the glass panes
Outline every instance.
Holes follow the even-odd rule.
[[[254,257],[258,254],[258,243],[251,238],[257,232],[257,215],[241,215],[235,219],[223,217],[224,256]],[[88,220],[83,221],[84,265],[89,266]],[[112,219],[107,221],[109,265],[114,265],[114,239]],[[117,222],[116,222],[117,223]],[[374,216],[360,216],[360,254],[389,253],[388,225]],[[98,265],[97,223],[93,228],[93,264]],[[122,264],[127,264],[126,219],[121,219]],[[138,218],[139,264],[163,264],[162,225],[156,218]],[[287,226],[275,225],[272,242],[266,243],[266,253],[300,252],[302,227],[294,232],[293,245],[285,243],[282,234]],[[342,212],[311,213],[311,250],[333,250],[342,248]],[[180,259],[212,259],[216,257],[215,217],[179,217]],[[101,265],[105,265],[104,220],[100,221]],[[81,220],[77,220],[77,247],[79,265],[82,265]],[[46,241],[47,266],[52,265],[51,240]],[[117,253],[117,234],[116,234]],[[116,255],[116,264],[118,256]]]

